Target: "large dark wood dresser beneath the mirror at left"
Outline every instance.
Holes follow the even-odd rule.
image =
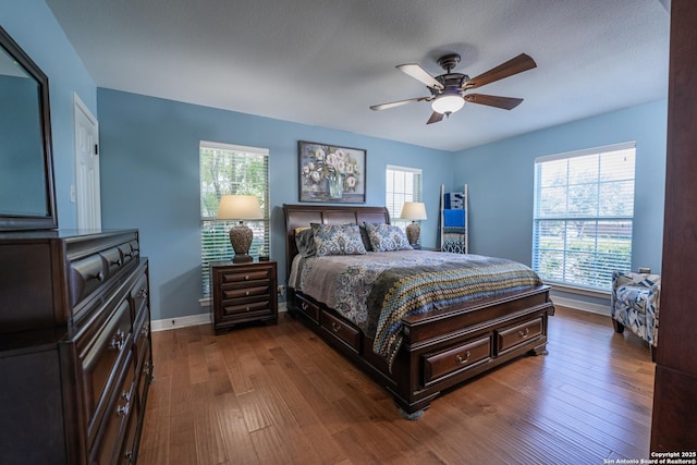
[[[0,233],[0,463],[135,463],[148,293],[136,230]]]

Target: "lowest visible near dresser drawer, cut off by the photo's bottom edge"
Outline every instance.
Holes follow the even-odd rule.
[[[105,413],[97,441],[91,448],[93,463],[119,463],[123,438],[132,415],[136,415],[135,369],[132,353],[129,352],[126,363],[118,378],[117,389],[111,392],[111,399]]]

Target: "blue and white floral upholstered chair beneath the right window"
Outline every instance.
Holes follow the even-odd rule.
[[[629,328],[649,343],[656,360],[658,346],[658,313],[661,294],[660,274],[614,271],[610,296],[612,323],[617,333]]]

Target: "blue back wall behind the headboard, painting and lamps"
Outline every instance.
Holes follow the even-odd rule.
[[[208,310],[198,302],[200,140],[269,149],[271,258],[279,262],[279,282],[285,281],[281,206],[298,201],[298,139],[365,148],[366,205],[384,205],[388,164],[421,168],[429,213],[421,238],[436,245],[440,184],[452,182],[451,152],[112,89],[97,95],[102,227],[140,230],[154,319]]]

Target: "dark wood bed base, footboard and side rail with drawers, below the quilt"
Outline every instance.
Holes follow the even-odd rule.
[[[524,354],[547,353],[549,286],[403,319],[404,343],[392,370],[372,340],[323,304],[293,290],[289,311],[390,391],[407,415],[451,388]]]

